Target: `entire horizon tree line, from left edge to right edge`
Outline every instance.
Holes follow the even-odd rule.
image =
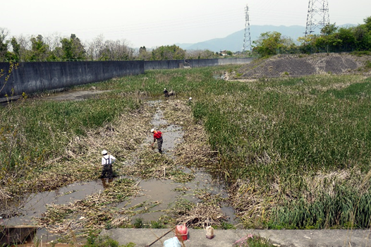
[[[363,24],[338,28],[336,23],[325,25],[319,35],[308,34],[294,42],[279,32],[264,32],[253,41],[252,52],[240,56],[269,56],[282,53],[371,52],[371,16]],[[8,37],[0,28],[0,61],[123,61],[214,59],[221,53],[206,50],[185,50],[174,45],[155,49],[133,49],[126,40],[104,40],[99,35],[91,42],[81,42],[75,35],[60,37],[42,35]],[[232,52],[227,51],[229,56]],[[236,55],[236,54],[235,54]]]

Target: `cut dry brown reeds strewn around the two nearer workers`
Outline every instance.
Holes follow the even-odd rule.
[[[164,112],[167,125],[174,124],[183,128],[183,142],[176,147],[174,157],[154,152],[147,143],[146,138],[150,135],[148,130],[151,128],[150,119],[157,107]],[[183,183],[191,181],[195,176],[192,172],[185,173],[183,167],[207,166],[216,159],[207,144],[205,131],[193,120],[190,106],[183,100],[166,100],[154,106],[143,104],[138,111],[123,114],[114,123],[91,131],[86,138],[75,138],[68,147],[68,154],[73,157],[73,164],[69,164],[69,167],[94,169],[95,177],[100,171],[97,154],[103,148],[110,150],[118,159],[125,160],[115,164],[114,169],[118,174],[133,179],[172,179]],[[63,165],[66,166],[66,163],[60,164],[61,167]],[[85,176],[87,173],[85,170]],[[117,203],[126,202],[126,205],[129,205],[130,198],[140,195],[138,183],[119,179],[109,183],[109,187],[102,193],[91,195],[84,200],[68,205],[49,205],[47,212],[38,218],[37,222],[58,234],[68,234],[71,230],[83,231],[86,234],[87,231],[130,226],[133,215],[149,212],[159,203],[145,202],[130,208],[116,209],[114,205]],[[191,203],[192,207],[187,212],[175,214],[176,217],[169,223],[185,222],[189,227],[202,227],[210,224],[220,225],[226,220],[219,203],[214,200],[211,200],[214,203],[203,201],[199,204]],[[209,203],[205,203],[207,201]],[[176,211],[174,208],[172,210]],[[168,213],[172,214],[170,211]]]

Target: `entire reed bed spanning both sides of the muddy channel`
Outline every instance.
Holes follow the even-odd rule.
[[[32,187],[32,179],[41,189],[43,175],[56,180],[55,186],[77,176],[97,178],[92,164],[102,147],[131,159],[154,114],[140,98],[159,97],[167,88],[178,98],[164,102],[164,115],[185,131],[177,158],[145,147],[137,167],[121,164],[118,170],[187,181],[192,177],[179,167],[208,167],[229,186],[229,201],[245,227],[370,227],[371,79],[322,75],[240,82],[215,76],[237,68],[148,71],[73,89],[113,90],[95,100],[26,99],[1,109],[6,172],[0,195],[23,193],[27,189],[19,188]],[[8,186],[12,181],[20,186]]]

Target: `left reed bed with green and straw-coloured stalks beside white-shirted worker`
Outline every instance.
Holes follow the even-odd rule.
[[[101,171],[100,153],[103,149],[109,150],[118,159],[124,159],[131,150],[135,149],[135,146],[146,135],[142,129],[150,126],[148,123],[150,117],[152,117],[150,112],[140,114],[141,118],[138,119],[138,114],[146,111],[146,105],[141,105],[137,99],[118,100],[119,103],[112,104],[111,102],[110,104],[112,105],[107,105],[105,97],[109,96],[102,96],[101,99],[87,100],[86,102],[37,102],[29,100],[30,102],[16,102],[9,108],[1,109],[4,112],[12,112],[12,115],[1,124],[4,126],[6,124],[17,126],[16,133],[18,133],[17,135],[12,135],[12,140],[9,140],[14,141],[17,145],[1,150],[2,155],[11,155],[10,159],[13,160],[1,159],[3,167],[0,172],[2,181],[1,195],[4,196],[0,200],[2,203],[7,197],[16,199],[26,193],[49,191],[75,181],[97,179]],[[92,102],[93,104],[91,104]],[[44,124],[53,126],[53,128],[47,130],[47,133],[44,133],[45,130],[42,128],[39,116],[47,116],[49,114],[49,111],[51,111],[49,104],[56,108],[54,114],[61,114],[61,116],[59,118],[48,116],[47,119],[44,119]],[[84,109],[83,107],[79,109],[80,104],[83,104],[83,107],[85,106],[86,108],[91,106],[99,107],[102,111],[111,111],[110,114],[113,114],[112,119],[106,119],[102,122],[102,126],[91,128],[80,126],[78,123],[86,120],[82,120],[85,118],[85,114],[80,112]],[[70,111],[69,105],[72,105],[73,109],[79,109],[80,114],[76,112],[76,114],[68,115],[65,118],[67,123],[65,121],[60,123],[59,119],[63,118],[64,113],[59,112],[59,110],[66,108]],[[119,107],[118,105],[121,106]],[[20,117],[18,118],[20,111],[39,112],[35,116],[30,116],[30,121],[37,122],[37,126],[34,126],[35,129],[29,131],[27,135],[23,126],[30,123],[25,119],[20,121]],[[94,111],[95,109],[93,108],[89,109],[89,112]],[[13,117],[13,114],[17,117]],[[34,117],[35,119],[33,119]],[[71,117],[73,120],[68,121],[68,117]],[[15,122],[11,123],[11,121]],[[73,123],[77,125],[75,128],[80,126],[80,131],[83,131],[85,134],[69,129],[68,123],[71,122],[75,122]],[[34,135],[34,137],[26,138],[26,143],[21,143],[18,140],[18,138],[25,138],[28,135]],[[48,135],[54,136],[54,138]],[[5,145],[5,143],[2,144]],[[51,146],[44,150],[44,145]],[[23,146],[26,148],[23,149]],[[53,147],[58,148],[53,149]],[[31,156],[36,158],[29,159]],[[17,159],[19,160],[16,161]],[[24,159],[27,160],[24,161]],[[119,169],[120,165],[122,163],[118,162],[114,169]]]

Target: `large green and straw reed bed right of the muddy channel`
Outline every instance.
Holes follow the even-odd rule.
[[[302,198],[309,205],[323,193],[333,198],[334,186],[318,179],[319,173],[326,177],[345,172],[347,179],[332,183],[357,188],[354,200],[366,201],[368,188],[360,188],[359,181],[367,180],[370,171],[369,78],[263,78],[226,83],[223,90],[197,100],[193,114],[204,123],[212,149],[221,155],[219,166],[234,191],[231,201],[246,227],[278,227],[277,217],[274,223],[269,221],[281,206],[289,212]],[[333,204],[327,200],[322,206]],[[309,205],[298,212],[304,213]],[[355,203],[351,205],[354,210]],[[367,215],[370,207],[367,203],[362,207]],[[369,226],[346,208],[339,205],[336,212],[326,213],[346,219],[320,224],[317,218],[293,225],[343,227],[341,222],[355,220],[363,224],[353,226]]]

